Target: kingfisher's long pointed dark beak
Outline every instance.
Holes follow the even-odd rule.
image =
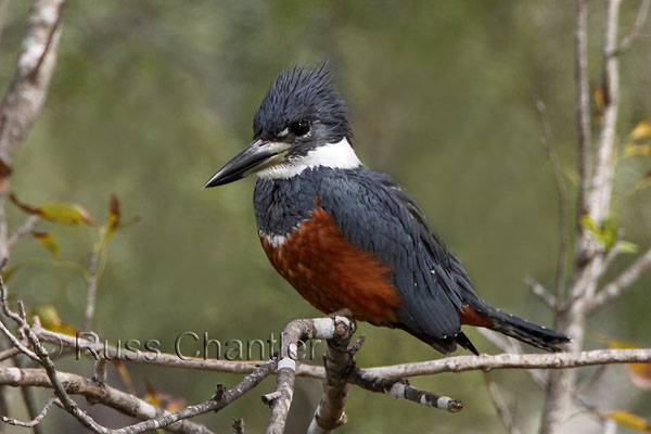
[[[288,149],[290,149],[289,143],[254,140],[217,170],[203,188],[224,186],[282,163],[285,159]]]

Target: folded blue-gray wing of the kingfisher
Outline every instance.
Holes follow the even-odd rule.
[[[321,178],[320,206],[346,239],[393,269],[403,296],[400,327],[444,353],[459,343],[458,310],[472,289],[459,259],[430,229],[409,194],[384,174],[366,168],[331,170]]]

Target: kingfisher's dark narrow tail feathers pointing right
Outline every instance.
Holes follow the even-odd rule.
[[[473,303],[470,308],[482,319],[480,327],[503,333],[526,344],[547,352],[560,352],[558,344],[570,342],[570,337],[542,326],[534,324],[511,314],[502,312],[485,303]]]

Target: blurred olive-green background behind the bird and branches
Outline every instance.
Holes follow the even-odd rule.
[[[9,4],[0,44],[3,88],[29,3]],[[598,84],[602,10],[598,2],[589,7],[590,79]],[[630,27],[637,7],[624,3],[621,33]],[[259,247],[254,179],[200,188],[248,143],[253,114],[277,73],[326,58],[349,103],[362,161],[410,190],[484,298],[551,324],[551,312],[523,278],[552,286],[559,238],[558,195],[536,98],[547,106],[550,140],[563,166],[570,174],[575,166],[570,2],[85,0],[68,2],[64,23],[50,93],[14,156],[11,188],[30,204],[82,204],[99,221],[115,193],[127,219],[141,217],[111,241],[99,284],[93,329],[111,343],[157,339],[162,349],[173,350],[184,331],[207,331],[222,341],[267,339],[294,318],[320,315],[277,276]],[[622,139],[651,117],[650,42],[647,26],[622,56]],[[651,194],[628,193],[649,170],[649,157],[624,158],[615,187],[615,199],[628,197],[615,220],[625,239],[642,248],[651,243]],[[15,228],[25,215],[9,206]],[[39,230],[59,238],[60,259],[87,267],[95,229],[40,224]],[[10,265],[34,257],[50,258],[27,238]],[[604,281],[631,259],[621,256]],[[647,275],[593,317],[587,345],[603,346],[603,336],[651,345],[650,285]],[[31,260],[10,286],[28,306],[53,305],[64,321],[81,326],[86,282],[78,273]],[[399,331],[361,324],[360,333],[367,336],[360,366],[441,357]],[[468,334],[481,352],[498,353],[478,333]],[[323,349],[317,347],[317,362]],[[67,358],[59,366],[92,372],[88,361]],[[217,383],[229,386],[240,379],[143,366],[129,371],[139,393],[146,379],[156,391],[188,403],[207,398]],[[533,432],[541,391],[526,372],[502,371],[494,379],[508,399],[516,399],[523,431]],[[122,387],[113,370],[110,382]],[[350,421],[340,431],[501,432],[482,373],[412,383],[463,399],[465,409],[448,414],[353,387]],[[267,380],[226,410],[196,420],[219,432],[230,430],[231,418],[244,417],[250,432],[260,432],[268,410],[259,396],[272,387]],[[288,432],[305,431],[320,388],[317,381],[297,380]],[[24,414],[18,393],[11,398],[14,413]],[[633,386],[622,367],[609,368],[602,386],[586,399],[601,409],[651,413],[651,397]],[[91,411],[108,424],[128,422],[112,410]],[[578,421],[574,432],[600,432],[590,418]],[[82,431],[58,410],[44,426]]]

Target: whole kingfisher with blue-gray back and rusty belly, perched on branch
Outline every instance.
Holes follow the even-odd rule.
[[[409,193],[363,166],[328,61],[281,72],[255,113],[253,141],[205,188],[257,175],[258,235],[276,270],[324,314],[401,329],[443,354],[478,355],[461,326],[558,352],[567,336],[500,311]]]

